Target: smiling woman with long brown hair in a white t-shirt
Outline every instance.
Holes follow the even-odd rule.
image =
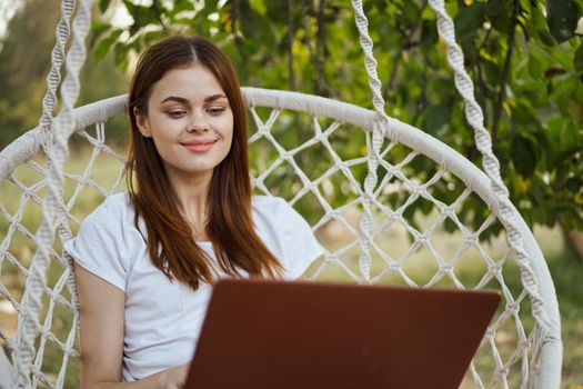
[[[66,245],[81,386],[178,388],[217,279],[298,278],[322,250],[285,201],[251,194],[239,81],[208,40],[147,49],[128,107],[129,193],[110,196]]]

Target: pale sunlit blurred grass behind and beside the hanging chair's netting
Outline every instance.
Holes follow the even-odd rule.
[[[89,177],[91,182],[100,186],[105,192],[108,192],[115,181],[121,164],[110,156],[102,153],[96,157],[96,162],[99,166],[99,169],[87,172],[86,174],[87,161],[90,159],[91,156],[87,152],[73,154],[68,162],[67,171],[72,176]],[[43,166],[42,160],[38,160],[38,163]],[[46,189],[40,188],[37,190],[34,187],[34,183],[41,179],[41,176],[39,176],[32,167],[20,167],[14,176],[18,177],[18,180],[26,187],[31,188],[29,191],[41,197],[46,194]],[[103,193],[96,189],[97,187],[79,187],[78,181],[72,178],[66,178],[64,186],[66,201],[77,197],[72,215],[80,220],[82,220],[83,217],[103,199]],[[77,192],[78,189],[81,190]],[[6,181],[0,183],[0,201],[2,207],[4,207],[6,212],[10,215],[11,218],[14,217],[19,219],[20,225],[27,228],[27,230],[21,229],[20,231],[13,232],[8,251],[13,258],[18,258],[18,261],[22,267],[28,268],[36,250],[36,245],[33,243],[30,233],[33,235],[38,226],[41,223],[42,212],[40,206],[34,203],[34,201],[28,201],[26,207],[21,208],[21,199],[22,191],[18,184]],[[419,222],[426,227],[429,221],[430,220],[420,220]],[[76,222],[71,222],[70,225],[74,232],[78,226]],[[11,223],[4,218],[0,218],[0,239],[2,240],[7,233],[11,231]],[[541,248],[545,253],[560,302],[562,337],[565,347],[562,387],[567,389],[579,388],[579,386],[583,385],[583,372],[581,369],[583,361],[583,342],[580,340],[583,339],[583,309],[581,305],[583,301],[583,287],[581,287],[582,282],[580,282],[580,278],[583,276],[583,262],[575,259],[573,255],[565,250],[562,243],[562,236],[557,230],[536,230],[535,236],[537,241],[541,242]],[[324,226],[318,231],[318,237],[321,239],[324,247],[331,251],[340,249],[346,241],[353,239],[350,233],[346,235],[346,231],[338,225]],[[411,247],[411,240],[406,230],[402,227],[392,226],[386,228],[382,231],[380,237],[375,239],[375,242],[383,251],[391,255],[392,258],[406,258],[402,261],[402,269],[410,277],[410,280],[415,283],[426,285],[428,282],[431,282],[434,286],[441,287],[451,287],[454,285],[454,281],[446,276],[441,279],[433,279],[435,271],[439,269],[439,265],[433,255],[425,247],[421,246],[408,255],[408,250]],[[431,243],[441,257],[451,259],[455,257],[455,252],[462,246],[463,237],[455,233],[450,235],[444,231],[438,231],[431,237]],[[504,262],[503,258],[507,247],[502,237],[482,246],[492,259],[501,261],[500,263]],[[54,247],[56,252],[60,252],[60,243],[57,242]],[[339,263],[342,263],[346,269],[358,275],[358,258],[359,249],[355,247],[340,255]],[[8,258],[3,257],[0,261],[0,282],[9,290],[17,301],[20,301],[26,279],[21,270],[19,270],[19,266],[17,266],[18,263],[11,262]],[[314,263],[309,270],[309,273],[316,272],[321,266],[322,261]],[[485,270],[486,266],[482,259],[481,252],[473,248],[463,251],[460,258],[454,261],[453,266],[456,279],[468,288],[475,287],[482,280]],[[49,287],[54,288],[59,283],[62,271],[63,266],[53,258],[48,272]],[[379,256],[374,256],[373,258],[371,273],[373,277],[379,277],[379,282],[382,283],[405,282],[398,272],[385,272],[385,262]],[[516,298],[522,290],[517,267],[512,261],[505,261],[503,266],[503,275],[505,285],[512,296]],[[350,277],[341,267],[332,263],[331,266],[326,266],[325,269],[319,273],[319,279],[348,280]],[[500,282],[493,279],[487,281],[485,287],[500,289]],[[67,300],[70,300],[67,288],[63,289],[62,295]],[[46,296],[43,305],[44,311],[47,311],[49,302],[50,301]],[[530,315],[530,305],[527,302],[521,305],[520,317],[526,333],[529,333],[534,321]],[[71,311],[62,305],[57,303],[52,320],[48,322],[48,326],[57,338],[64,342],[69,329],[71,328]],[[0,327],[3,332],[10,336],[16,329],[13,316],[9,317],[1,313]],[[506,323],[499,329],[496,343],[499,345],[499,350],[503,360],[509,358],[510,352],[516,346],[517,339],[517,331],[513,320],[506,321]],[[60,348],[54,342],[50,340],[47,341],[46,352],[42,358],[42,371],[47,373],[50,380],[54,380],[56,376],[59,373],[62,358],[62,351]],[[491,376],[493,370],[493,359],[487,346],[479,350],[475,363],[480,371],[484,371],[483,377],[487,378]],[[78,375],[79,361],[72,359],[67,367],[64,387],[77,388]],[[489,379],[484,379],[484,381],[487,382]],[[515,368],[511,370],[509,381],[511,388],[519,385],[520,363],[515,365]],[[464,381],[463,387],[473,388],[474,386],[471,380],[466,380]]]

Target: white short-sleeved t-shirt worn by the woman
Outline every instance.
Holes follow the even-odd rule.
[[[77,263],[125,292],[122,371],[129,381],[192,358],[212,291],[203,282],[193,291],[155,268],[133,216],[129,197],[112,194],[64,245]],[[254,196],[252,216],[285,279],[300,277],[322,255],[308,222],[283,199]],[[141,230],[145,235],[145,228]],[[215,258],[210,242],[199,246]]]

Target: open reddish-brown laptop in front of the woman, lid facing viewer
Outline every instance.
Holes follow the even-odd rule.
[[[224,279],[188,389],[459,388],[494,291]]]

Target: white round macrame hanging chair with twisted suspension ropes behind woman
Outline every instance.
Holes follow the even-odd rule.
[[[0,153],[0,293],[18,313],[13,333],[0,328],[0,388],[77,387],[67,377],[77,377],[79,369],[78,303],[72,259],[62,250],[62,242],[72,238],[94,203],[122,190],[124,162],[105,123],[125,113],[125,96],[73,109],[78,76],[86,60],[91,3],[81,0],[77,4],[67,77],[61,86],[61,112],[53,120],[74,0],[62,0],[40,124]],[[252,121],[253,186],[264,194],[279,194],[287,188],[292,206],[302,209],[306,203],[311,209],[304,216],[316,237],[329,238],[321,240],[325,255],[311,268],[312,279],[339,279],[343,275],[343,279],[361,283],[500,290],[501,307],[463,388],[559,388],[560,316],[549,269],[500,178],[473,84],[463,68],[463,53],[454,39],[453,22],[443,1],[430,4],[448,46],[455,87],[464,99],[484,171],[440,140],[385,114],[368,22],[361,1],[353,1],[374,109],[295,92],[243,88]],[[296,143],[290,144],[289,133],[299,124],[301,136],[291,137]],[[344,152],[342,139],[346,136],[362,137],[366,153],[354,157]],[[83,166],[79,166],[80,157],[73,166],[68,161],[70,138],[91,147]],[[275,157],[270,158],[265,150]],[[320,151],[321,171],[305,162],[306,150]],[[420,159],[431,167],[424,180],[411,168],[412,161]],[[364,180],[360,179],[362,171]],[[338,182],[348,193],[342,203],[333,197]],[[443,188],[459,194],[456,200],[444,202],[440,196]],[[20,198],[16,207],[8,201],[14,198]],[[458,215],[469,198],[478,198],[487,210],[471,223],[478,228]],[[421,206],[431,208],[426,220],[412,222],[408,212]],[[456,239],[456,243],[448,240],[454,246],[449,253],[442,245],[445,225],[455,229],[448,235]],[[496,227],[505,239],[493,245],[492,239],[482,238],[484,231]],[[388,246],[391,236],[393,243]],[[481,273],[469,280],[464,277],[469,268]]]

